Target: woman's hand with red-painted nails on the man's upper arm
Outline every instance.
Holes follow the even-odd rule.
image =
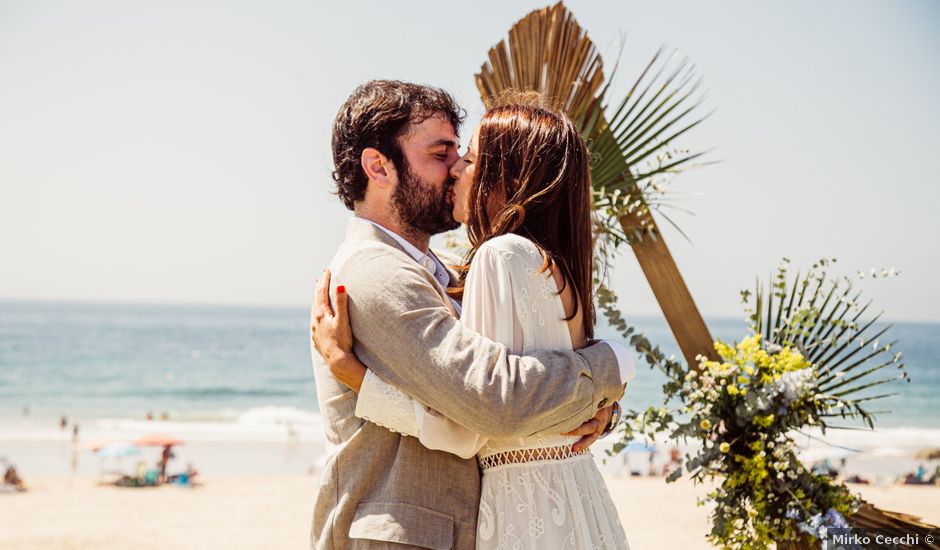
[[[310,309],[310,338],[333,376],[358,392],[366,367],[352,351],[353,334],[347,299],[346,288],[337,286],[334,310],[330,305],[330,270],[324,271],[323,277],[317,281]]]

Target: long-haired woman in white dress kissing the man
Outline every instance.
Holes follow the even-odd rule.
[[[462,285],[449,292],[463,300],[462,324],[514,354],[577,349],[593,337],[588,163],[565,115],[508,104],[484,115],[451,167],[453,215],[466,224],[471,250],[457,268]],[[593,457],[573,447],[577,436],[473,433],[356,360],[345,300],[336,306],[335,320],[317,327],[317,348],[325,358],[342,357],[327,361],[359,392],[356,416],[430,449],[476,455],[483,473],[477,548],[628,548]]]

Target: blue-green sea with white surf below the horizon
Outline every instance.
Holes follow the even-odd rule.
[[[629,321],[667,354],[665,321]],[[740,340],[739,319],[708,319]],[[599,336],[613,336],[599,327]],[[883,428],[940,428],[940,324],[896,323],[911,382],[873,409]],[[882,341],[888,341],[887,337]],[[886,369],[887,370],[887,369]],[[638,362],[627,408],[661,403],[661,375]],[[319,431],[303,308],[0,302],[0,439],[58,427],[134,427],[156,419],[209,431]]]

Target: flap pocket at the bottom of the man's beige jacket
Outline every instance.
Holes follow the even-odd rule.
[[[356,508],[349,538],[449,550],[454,545],[454,518],[403,502],[363,502]]]

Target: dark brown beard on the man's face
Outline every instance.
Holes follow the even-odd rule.
[[[460,223],[454,221],[454,204],[450,200],[453,180],[447,178],[447,182],[438,188],[416,177],[408,165],[403,164],[398,185],[392,193],[392,204],[398,210],[402,225],[427,235],[460,227]]]

